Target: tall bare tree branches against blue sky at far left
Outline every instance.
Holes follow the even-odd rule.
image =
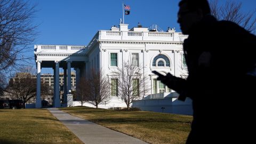
[[[0,0],[0,75],[27,65],[33,58],[25,53],[31,51],[29,45],[36,37],[34,14],[35,5],[26,0]]]

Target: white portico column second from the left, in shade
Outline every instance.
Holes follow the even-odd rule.
[[[60,70],[59,70],[59,61],[55,61],[55,99],[54,107],[60,107]]]

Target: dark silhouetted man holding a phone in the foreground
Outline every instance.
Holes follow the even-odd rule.
[[[187,143],[252,140],[256,96],[256,37],[230,21],[210,15],[206,0],[182,0],[178,22],[188,78],[167,74],[158,80],[193,100],[193,122]]]

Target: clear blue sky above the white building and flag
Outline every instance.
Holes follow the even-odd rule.
[[[131,6],[130,15],[125,16],[129,28],[153,24],[163,30],[167,27],[180,31],[177,23],[180,0],[124,0]],[[225,2],[221,0],[220,2]],[[242,0],[241,0],[242,1]],[[121,0],[34,0],[37,4],[35,24],[38,37],[35,44],[87,45],[98,30],[108,30],[119,25],[123,18]],[[243,0],[243,9],[255,10],[255,0]],[[33,46],[32,46],[33,47]],[[31,50],[29,55],[34,55]],[[52,73],[42,69],[42,73]]]

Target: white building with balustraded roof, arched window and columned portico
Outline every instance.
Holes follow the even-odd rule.
[[[88,77],[90,69],[102,70],[110,82],[111,72],[122,68],[123,62],[132,60],[143,67],[143,76],[148,77],[151,90],[148,94],[173,92],[151,71],[171,73],[177,77],[186,77],[186,63],[183,58],[182,43],[186,35],[168,29],[166,32],[141,26],[129,29],[129,25],[120,24],[110,30],[99,30],[87,46],[35,45],[37,75],[42,67],[54,69],[54,78],[59,79],[59,68],[64,71],[64,90],[70,90],[70,68],[76,70],[76,83],[79,77]],[[39,77],[38,76],[38,77]],[[65,78],[66,77],[66,78]],[[38,80],[38,79],[37,79]],[[60,107],[59,83],[54,86],[54,106]],[[40,81],[37,83],[36,107],[41,107]],[[109,93],[110,94],[110,93]],[[125,107],[121,99],[110,95],[111,101],[99,105],[99,108]],[[65,101],[67,102],[67,100]],[[79,104],[77,104],[79,105]]]

